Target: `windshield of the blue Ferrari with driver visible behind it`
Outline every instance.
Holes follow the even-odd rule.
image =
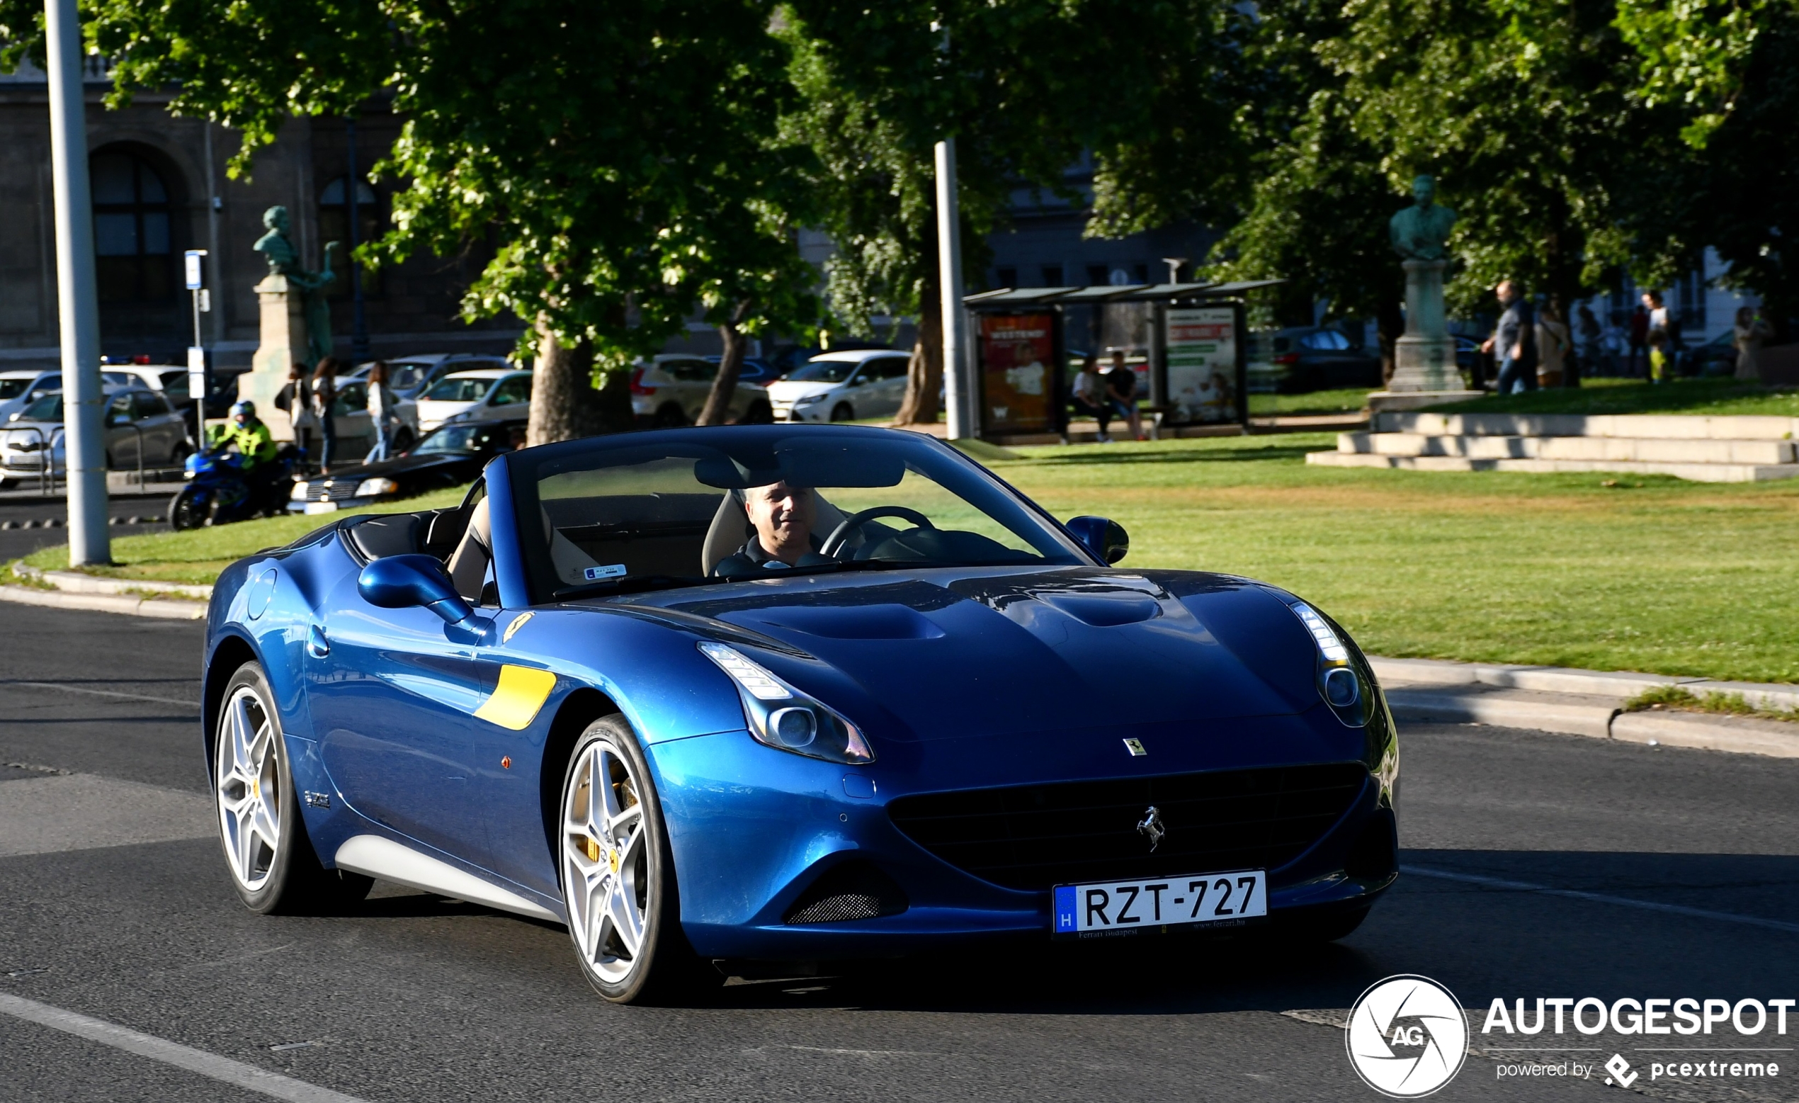
[[[538,601],[898,567],[1079,565],[1049,520],[935,441],[727,426],[531,448],[511,486]]]

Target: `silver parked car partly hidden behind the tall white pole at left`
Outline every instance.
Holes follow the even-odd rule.
[[[144,468],[178,468],[192,452],[187,419],[144,387],[108,390],[104,426],[112,470],[133,470],[140,459]],[[61,390],[40,396],[0,426],[0,484],[40,477],[45,455],[52,471],[68,471]]]

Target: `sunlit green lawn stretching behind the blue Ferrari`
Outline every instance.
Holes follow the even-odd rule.
[[[1376,655],[1799,682],[1799,480],[1304,466],[1331,444],[1329,434],[1076,444],[986,462],[1056,516],[1123,522],[1124,567],[1288,587]],[[320,520],[131,536],[113,554],[121,574],[205,581]],[[31,561],[54,567],[61,554]]]

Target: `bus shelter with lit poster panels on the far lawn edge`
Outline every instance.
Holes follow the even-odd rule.
[[[1249,426],[1243,297],[1281,281],[1002,288],[962,299],[971,315],[982,437],[1069,430],[1070,308],[1150,304],[1150,408],[1162,426]],[[1105,367],[1105,365],[1101,365]]]

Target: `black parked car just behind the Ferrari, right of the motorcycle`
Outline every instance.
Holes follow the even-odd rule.
[[[524,437],[522,419],[453,421],[426,434],[405,455],[295,482],[288,513],[336,513],[462,486],[473,482],[489,459],[524,444]]]

